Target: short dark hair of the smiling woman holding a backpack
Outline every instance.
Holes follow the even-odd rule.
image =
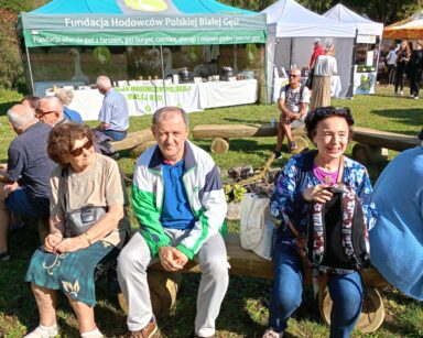
[[[334,106],[328,106],[318,107],[314,110],[308,111],[307,117],[305,118],[305,129],[307,130],[307,137],[312,142],[316,133],[318,122],[332,117],[340,117],[345,119],[349,129],[349,139],[351,138],[351,126],[355,123],[351,110],[348,107],[337,108]]]

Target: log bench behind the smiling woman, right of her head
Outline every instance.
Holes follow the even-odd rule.
[[[401,152],[421,143],[416,137],[364,127],[354,128],[352,140],[357,142],[352,148],[352,157],[364,164],[386,160],[388,149]]]

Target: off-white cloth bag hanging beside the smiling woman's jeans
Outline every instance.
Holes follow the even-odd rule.
[[[272,260],[274,219],[270,214],[269,198],[245,194],[240,206],[241,247],[263,259]]]

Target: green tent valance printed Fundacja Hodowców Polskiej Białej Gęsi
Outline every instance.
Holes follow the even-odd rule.
[[[264,14],[21,17],[28,47],[265,43]]]

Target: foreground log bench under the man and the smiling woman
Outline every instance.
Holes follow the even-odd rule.
[[[228,235],[226,248],[230,264],[229,274],[269,280],[273,279],[273,263],[262,259],[251,251],[243,250],[238,233]],[[196,262],[189,261],[182,273],[200,273],[200,269]],[[366,309],[361,312],[356,328],[362,332],[371,332],[379,328],[384,318],[383,303],[379,293],[376,291],[376,287],[386,286],[388,283],[375,269],[365,271],[362,277],[369,295],[372,297],[373,306],[367,306]],[[169,314],[171,307],[176,302],[177,291],[182,281],[181,274],[164,271],[159,262],[150,266],[148,280],[155,316],[160,317]],[[128,306],[121,293],[118,294],[118,301],[123,312],[127,313]],[[377,308],[375,308],[375,304]],[[332,301],[327,292],[319,295],[319,308],[325,323],[329,323]],[[376,310],[379,310],[379,316],[375,319]],[[382,314],[382,316],[380,316],[380,314]]]

